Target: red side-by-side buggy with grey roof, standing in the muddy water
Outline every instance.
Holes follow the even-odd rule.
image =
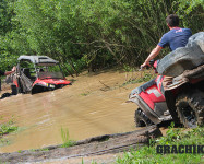
[[[12,77],[12,94],[40,93],[71,85],[57,60],[47,56],[20,56]],[[57,71],[56,71],[57,70]]]

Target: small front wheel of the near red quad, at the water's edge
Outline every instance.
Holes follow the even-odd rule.
[[[136,127],[147,127],[153,125],[151,119],[144,114],[141,108],[137,108],[137,110],[135,110],[134,121]]]

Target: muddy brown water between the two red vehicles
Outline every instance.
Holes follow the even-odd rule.
[[[0,122],[13,116],[19,131],[5,137],[0,153],[61,144],[61,129],[70,139],[135,130],[136,105],[125,103],[140,84],[122,85],[141,74],[119,71],[82,73],[71,86],[35,95],[19,94],[0,101]],[[71,79],[68,77],[67,79]],[[2,94],[2,92],[1,92]]]

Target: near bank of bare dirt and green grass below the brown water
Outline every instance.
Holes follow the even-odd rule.
[[[124,133],[88,138],[37,150],[0,154],[2,163],[40,164],[127,164],[127,163],[203,163],[204,128],[169,127],[166,136],[156,126]],[[157,147],[170,149],[157,149]],[[172,149],[175,147],[175,149]],[[179,147],[182,147],[180,153]],[[188,148],[187,148],[188,147]]]

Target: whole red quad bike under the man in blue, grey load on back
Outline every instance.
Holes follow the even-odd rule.
[[[139,106],[136,127],[171,119],[189,128],[204,125],[204,33],[191,36],[187,47],[167,55],[154,68],[173,77],[172,83],[164,91],[164,75],[157,75],[131,92],[129,101]]]

